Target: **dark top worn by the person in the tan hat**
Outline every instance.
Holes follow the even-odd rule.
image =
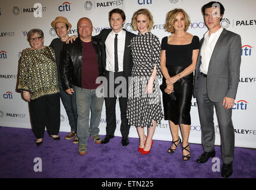
[[[50,47],[53,48],[54,53],[55,53],[55,58],[56,58],[56,64],[57,64],[57,71],[58,71],[58,80],[61,81],[61,77],[60,77],[60,72],[59,72],[59,66],[61,65],[61,52],[63,49],[63,46],[65,45],[66,42],[62,42],[61,39],[55,38],[52,40],[52,42],[50,43]]]

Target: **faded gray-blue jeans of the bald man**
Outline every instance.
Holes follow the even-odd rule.
[[[75,93],[78,114],[77,137],[79,138],[79,144],[87,144],[89,133],[91,134],[91,137],[99,134],[104,97],[97,97],[96,89],[85,89],[77,86],[75,86]],[[89,119],[90,111],[91,119]]]

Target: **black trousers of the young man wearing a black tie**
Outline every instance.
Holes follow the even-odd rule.
[[[108,96],[105,97],[105,107],[106,107],[106,135],[114,135],[115,129],[116,129],[116,99],[118,94],[118,100],[119,100],[119,107],[121,112],[121,126],[120,131],[122,134],[122,137],[128,137],[129,135],[129,128],[128,125],[128,119],[127,119],[127,85],[128,81],[126,81],[126,84],[118,83],[114,84],[117,77],[122,77],[123,72],[109,72],[105,71],[105,77],[108,80]],[[116,90],[116,87],[118,89],[121,87],[121,90]],[[114,93],[114,91],[118,91],[118,93]],[[122,97],[122,90],[126,90],[125,96]],[[124,92],[124,91],[123,91]]]

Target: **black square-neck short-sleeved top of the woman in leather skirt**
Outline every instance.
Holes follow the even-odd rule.
[[[192,52],[200,48],[199,37],[193,36],[187,45],[169,45],[167,36],[163,37],[161,49],[166,50],[166,66],[188,66],[192,63]]]

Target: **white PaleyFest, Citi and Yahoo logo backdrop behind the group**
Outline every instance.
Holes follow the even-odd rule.
[[[123,9],[127,19],[124,28],[137,34],[131,26],[132,14],[140,8],[147,8],[153,15],[154,26],[151,32],[162,38],[169,36],[164,28],[166,13],[173,8],[184,9],[191,20],[188,32],[200,37],[206,33],[201,7],[209,0],[23,0],[1,1],[0,4],[0,126],[31,128],[28,103],[21,99],[16,91],[18,59],[21,52],[29,47],[27,32],[39,28],[45,33],[45,44],[58,37],[50,23],[63,16],[72,24],[69,36],[77,34],[77,21],[89,17],[93,22],[93,35],[102,29],[110,28],[108,12],[113,8]],[[256,128],[254,124],[256,107],[256,1],[222,0],[225,14],[222,27],[238,33],[242,37],[242,63],[238,93],[233,106],[233,125],[236,147],[256,148]],[[38,8],[37,8],[38,7]],[[41,11],[39,11],[41,10]],[[162,83],[162,81],[160,81]],[[217,93],[217,92],[216,92]],[[106,134],[105,105],[100,120],[100,134]],[[116,136],[120,132],[119,103],[116,103]],[[214,115],[216,145],[220,145],[220,131],[217,117]],[[61,105],[61,131],[69,132],[68,117]],[[147,131],[147,130],[146,130]],[[180,134],[181,136],[181,134]],[[138,137],[135,126],[131,126],[129,137]],[[157,125],[156,140],[171,141],[168,121]],[[197,101],[191,101],[190,143],[201,143],[201,126],[198,118]]]

